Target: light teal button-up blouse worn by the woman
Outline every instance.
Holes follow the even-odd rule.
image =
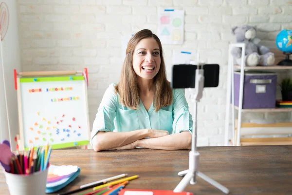
[[[102,98],[93,122],[91,140],[99,131],[129,132],[138,129],[157,129],[168,131],[169,134],[183,131],[192,133],[193,120],[184,89],[173,89],[172,104],[155,112],[153,103],[146,111],[141,99],[137,110],[120,104],[119,94],[114,92],[116,84],[110,84]]]

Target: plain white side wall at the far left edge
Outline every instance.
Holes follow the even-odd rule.
[[[1,2],[6,3],[8,7],[9,24],[6,35],[5,37],[2,36],[0,44],[0,140],[11,140],[12,148],[15,149],[16,142],[14,141],[14,137],[18,133],[18,110],[16,90],[14,89],[13,69],[21,71],[18,41],[18,9],[16,0],[1,0]],[[2,26],[4,25],[3,17],[0,22],[2,22],[2,30],[4,29]],[[6,109],[6,100],[8,109]],[[11,139],[8,133],[9,127],[11,130]]]

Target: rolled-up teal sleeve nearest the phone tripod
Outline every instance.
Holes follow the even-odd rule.
[[[173,134],[181,133],[183,131],[189,131],[192,133],[193,119],[184,96],[184,89],[174,89],[173,93]]]

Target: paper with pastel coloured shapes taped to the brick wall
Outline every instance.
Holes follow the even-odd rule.
[[[157,36],[162,43],[183,44],[183,32],[184,10],[159,10]]]

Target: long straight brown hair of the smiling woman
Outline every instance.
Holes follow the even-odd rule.
[[[131,109],[138,109],[140,104],[139,88],[137,82],[137,74],[133,69],[133,52],[136,45],[142,39],[153,38],[159,45],[160,49],[160,69],[154,77],[155,94],[153,106],[157,112],[161,107],[171,105],[172,103],[172,90],[170,84],[166,79],[166,70],[163,58],[163,50],[160,39],[153,34],[150,30],[144,29],[137,32],[128,42],[126,49],[126,58],[121,72],[121,80],[115,86],[115,92],[119,93],[119,101],[121,104]]]

